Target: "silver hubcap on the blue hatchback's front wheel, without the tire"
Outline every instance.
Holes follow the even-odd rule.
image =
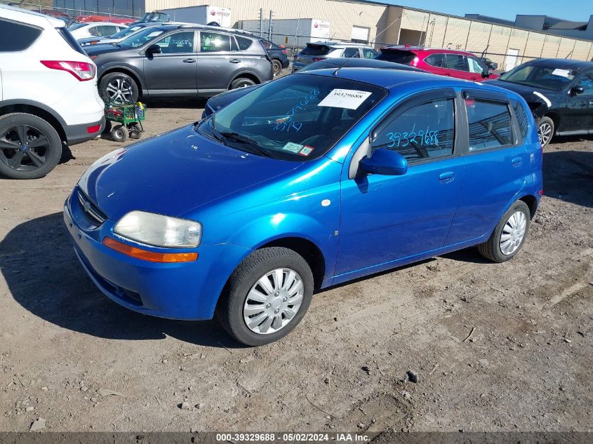
[[[291,322],[302,304],[302,279],[296,271],[279,268],[251,287],[243,306],[249,330],[260,335],[277,332]]]

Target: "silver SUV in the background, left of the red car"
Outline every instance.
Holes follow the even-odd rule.
[[[302,51],[295,55],[293,72],[319,60],[348,57],[374,59],[378,52],[362,43],[342,43],[338,41],[316,41],[307,43]]]

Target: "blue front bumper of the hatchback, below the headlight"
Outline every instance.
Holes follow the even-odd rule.
[[[64,205],[64,222],[74,243],[76,256],[95,285],[109,299],[142,314],[182,320],[211,319],[227,278],[250,253],[239,245],[200,245],[194,262],[162,264],[138,260],[102,244],[113,234],[115,222],[105,220],[95,226],[79,204],[76,188]],[[133,242],[129,245],[137,246]],[[190,249],[152,248],[161,253]]]

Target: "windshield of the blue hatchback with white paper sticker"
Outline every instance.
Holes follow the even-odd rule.
[[[215,112],[198,129],[242,151],[307,161],[326,154],[386,94],[333,76],[286,76]]]

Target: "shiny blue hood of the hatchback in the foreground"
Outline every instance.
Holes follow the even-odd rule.
[[[79,187],[112,220],[132,210],[178,216],[300,165],[225,147],[187,126],[103,156]]]

